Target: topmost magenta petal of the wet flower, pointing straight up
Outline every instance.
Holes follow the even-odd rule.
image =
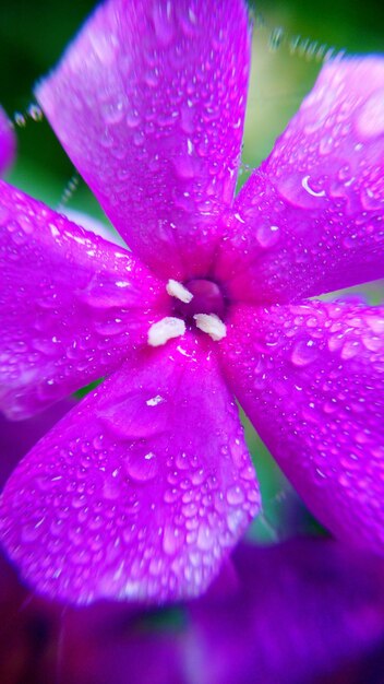
[[[112,0],[37,89],[117,229],[168,278],[204,273],[213,258],[236,185],[249,60],[243,0]]]

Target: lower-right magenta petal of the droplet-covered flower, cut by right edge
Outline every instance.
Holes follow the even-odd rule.
[[[384,552],[384,307],[241,308],[220,343],[232,389],[314,515]]]

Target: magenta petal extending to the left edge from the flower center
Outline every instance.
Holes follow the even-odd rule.
[[[12,418],[116,368],[167,315],[165,285],[132,255],[3,181],[0,266],[0,408]]]

